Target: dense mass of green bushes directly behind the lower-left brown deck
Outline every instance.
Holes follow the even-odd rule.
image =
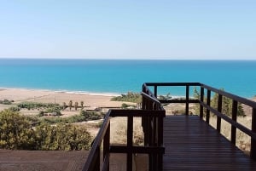
[[[88,150],[86,129],[71,124],[50,125],[16,111],[0,111],[0,148],[13,150]]]

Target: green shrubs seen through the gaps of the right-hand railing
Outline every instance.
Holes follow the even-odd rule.
[[[224,91],[223,88],[221,90]],[[194,97],[196,99],[200,98],[200,94],[196,88],[194,88]],[[204,97],[204,100],[207,101],[207,97]],[[225,115],[227,115],[229,117],[232,116],[232,104],[233,104],[233,101],[230,98],[223,96],[222,113],[224,113]],[[218,94],[213,95],[213,97],[211,99],[211,106],[214,109],[218,109]],[[199,105],[196,105],[195,111],[196,111],[196,113],[199,113]],[[241,103],[238,103],[238,106],[237,106],[237,116],[245,116],[245,113],[243,111]]]

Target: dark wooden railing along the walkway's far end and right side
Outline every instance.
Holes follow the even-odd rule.
[[[217,88],[212,88],[202,83],[144,83],[143,84],[143,92],[148,94],[148,96],[157,97],[158,96],[158,88],[159,87],[184,87],[185,88],[185,98],[180,100],[159,100],[160,103],[184,103],[185,104],[185,114],[189,115],[189,104],[190,103],[198,103],[200,105],[200,117],[206,117],[206,122],[209,123],[210,120],[210,112],[213,115],[217,116],[217,131],[220,133],[221,131],[221,120],[224,119],[227,123],[231,125],[231,138],[230,141],[234,145],[236,145],[236,129],[238,128],[244,134],[247,134],[251,137],[251,150],[250,150],[250,157],[253,160],[256,160],[256,102],[252,100],[247,100],[245,98],[241,98],[235,94],[230,94],[219,90]],[[154,94],[150,91],[150,87],[153,87]],[[200,90],[200,97],[199,99],[190,98],[190,88],[191,87],[199,87]],[[205,94],[207,92],[207,94]],[[217,109],[213,108],[211,105],[211,94],[215,93],[218,94],[218,107]],[[222,112],[223,106],[223,99],[224,97],[229,98],[232,100],[232,116],[228,117]],[[247,128],[241,123],[237,123],[237,107],[238,104],[244,104],[252,108],[252,126],[251,128]],[[206,114],[204,111],[206,110]],[[206,115],[206,116],[204,116]]]

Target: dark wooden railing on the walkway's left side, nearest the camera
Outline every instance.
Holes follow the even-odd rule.
[[[102,127],[94,140],[90,154],[83,171],[109,170],[111,153],[125,153],[126,170],[132,170],[132,155],[135,153],[148,154],[148,170],[161,171],[162,157],[165,152],[163,146],[163,118],[166,111],[160,107],[160,102],[148,94],[142,93],[143,110],[109,110]],[[145,102],[147,100],[147,102]],[[110,117],[127,117],[126,145],[111,145]],[[133,145],[133,118],[142,117],[144,145]],[[146,126],[147,125],[147,129]],[[101,157],[102,155],[102,157]]]

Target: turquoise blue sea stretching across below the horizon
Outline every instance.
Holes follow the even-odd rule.
[[[140,92],[145,82],[200,82],[249,98],[256,95],[256,60],[0,59],[0,88],[123,94]]]

